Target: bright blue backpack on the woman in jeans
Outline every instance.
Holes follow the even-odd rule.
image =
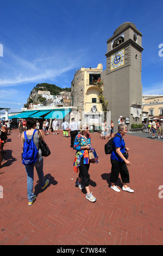
[[[34,130],[33,136],[37,130]],[[24,146],[22,152],[22,163],[26,165],[33,165],[37,161],[38,150],[33,141],[33,136],[31,139],[27,138],[26,131],[24,131]]]

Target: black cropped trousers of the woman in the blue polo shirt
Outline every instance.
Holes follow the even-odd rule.
[[[128,168],[124,161],[117,161],[111,159],[111,165],[110,182],[115,183],[118,179],[119,174],[121,174],[121,179],[123,183],[130,182]]]

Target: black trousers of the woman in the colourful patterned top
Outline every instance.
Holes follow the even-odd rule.
[[[84,157],[82,156],[82,159],[80,160],[80,166],[79,166],[79,177],[82,179],[82,184],[84,187],[89,186],[89,181],[90,181],[90,177],[88,173],[89,167],[90,167],[90,163],[84,164]]]

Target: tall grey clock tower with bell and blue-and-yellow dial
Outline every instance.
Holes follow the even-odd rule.
[[[107,41],[106,70],[102,72],[104,96],[117,132],[122,115],[128,130],[141,122],[141,46],[142,34],[134,23],[125,22]]]

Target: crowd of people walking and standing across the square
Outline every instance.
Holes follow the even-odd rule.
[[[4,150],[4,144],[7,142],[7,133],[10,131],[10,124],[11,121],[5,121],[2,123],[0,121],[0,130],[1,130],[1,137],[0,137],[0,144],[1,144],[1,154],[0,154],[0,167],[2,166],[2,159]],[[162,132],[163,132],[163,119],[158,122],[156,119],[153,120],[151,123],[150,121],[148,124],[144,125],[145,132],[152,132],[152,138],[155,137],[155,132],[158,132],[159,136],[162,138]],[[105,139],[108,129],[110,129],[110,136],[109,139],[112,140],[112,153],[110,155],[110,161],[111,161],[111,176],[110,176],[110,182],[111,186],[110,188],[114,190],[115,192],[120,192],[121,190],[117,187],[117,179],[119,174],[121,175],[122,179],[122,190],[127,191],[129,193],[133,193],[134,190],[132,190],[130,187],[128,187],[129,181],[129,171],[128,167],[130,166],[130,161],[128,161],[128,151],[129,149],[126,147],[124,142],[124,136],[126,135],[128,131],[128,127],[126,124],[124,124],[122,116],[120,116],[120,119],[118,119],[118,132],[116,136],[114,137],[114,123],[112,120],[110,121],[110,124],[108,125],[106,123],[106,120],[104,120],[101,124],[101,138]],[[52,135],[57,135],[59,130],[59,121],[55,118],[52,122]],[[61,129],[63,131],[63,137],[69,137],[68,134],[70,132],[71,137],[71,143],[70,147],[76,150],[75,158],[74,158],[74,171],[79,172],[76,186],[80,188],[80,190],[83,190],[85,188],[86,190],[86,199],[90,202],[96,202],[96,197],[92,195],[92,192],[90,192],[89,187],[89,168],[90,168],[90,161],[89,161],[89,149],[91,145],[91,136],[89,132],[89,126],[88,125],[82,125],[82,121],[79,120],[78,123],[75,121],[74,118],[72,118],[70,124],[63,120],[61,124]],[[44,180],[44,174],[43,174],[43,157],[40,150],[40,139],[43,138],[46,135],[49,135],[49,123],[46,119],[42,122],[42,130],[40,130],[40,123],[38,120],[35,120],[33,118],[20,119],[19,125],[18,125],[19,135],[18,137],[21,137],[21,145],[22,149],[24,147],[24,142],[26,139],[30,140],[33,136],[34,144],[38,150],[37,159],[36,162],[32,165],[26,165],[24,164],[24,167],[27,172],[27,194],[28,194],[28,205],[32,205],[33,202],[36,199],[36,196],[33,193],[33,179],[34,179],[34,167],[36,168],[37,175],[39,177],[40,185],[42,190],[44,190],[48,184],[49,180]],[[39,132],[40,131],[40,132]],[[41,137],[40,137],[41,136]]]

